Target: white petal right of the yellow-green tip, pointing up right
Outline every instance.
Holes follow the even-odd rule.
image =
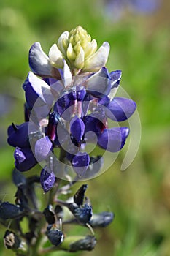
[[[107,62],[109,56],[109,43],[104,42],[96,53],[85,61],[85,71],[97,71]]]

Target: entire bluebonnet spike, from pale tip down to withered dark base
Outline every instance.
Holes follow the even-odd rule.
[[[91,250],[96,245],[93,228],[106,227],[114,219],[112,212],[93,213],[90,200],[85,197],[87,184],[72,198],[60,199],[77,181],[92,178],[101,170],[104,157],[89,153],[88,144],[115,153],[128,138],[129,128],[117,124],[131,117],[136,103],[115,97],[122,72],[108,71],[108,55],[109,43],[104,42],[97,50],[96,40],[91,40],[80,26],[63,32],[50,48],[49,56],[39,42],[31,46],[31,72],[23,83],[25,122],[12,123],[7,131],[7,141],[15,148],[15,203],[0,204],[0,220],[6,226],[12,220],[14,232],[19,230],[22,236],[16,247],[9,246],[16,253],[22,250],[22,243],[28,245],[26,249],[22,247],[28,255],[33,244],[36,255],[53,249]],[[114,127],[109,127],[109,120],[115,122]],[[38,176],[23,176],[21,172],[37,164],[42,166]],[[62,179],[68,183],[63,185]],[[39,210],[35,184],[41,184],[49,195],[43,211]],[[28,232],[23,234],[20,222],[25,217]],[[67,237],[61,223],[89,227],[92,236]],[[40,234],[53,246],[39,248]],[[15,233],[10,236],[17,237]]]

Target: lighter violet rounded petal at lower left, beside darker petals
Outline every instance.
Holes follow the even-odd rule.
[[[43,160],[47,159],[47,157],[50,156],[52,146],[53,144],[48,138],[48,136],[45,136],[36,141],[35,156],[37,162],[42,162]]]

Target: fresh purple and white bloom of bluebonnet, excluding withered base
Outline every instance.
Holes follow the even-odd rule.
[[[51,158],[56,162],[54,149],[63,148],[64,159],[70,162],[77,177],[90,177],[87,171],[92,156],[84,151],[86,143],[96,138],[97,145],[107,151],[123,148],[128,127],[109,128],[107,119],[125,121],[134,113],[136,104],[131,99],[114,97],[121,71],[109,72],[103,67],[109,54],[108,42],[98,51],[96,48],[96,40],[91,41],[80,26],[64,32],[50,48],[49,56],[39,43],[31,46],[29,63],[33,72],[23,83],[26,122],[12,124],[8,129],[8,143],[15,147],[18,170],[29,170],[42,161],[48,166]],[[58,170],[53,168],[54,165],[42,170],[45,192],[53,187],[54,176],[58,176]],[[93,172],[90,174],[93,176]]]

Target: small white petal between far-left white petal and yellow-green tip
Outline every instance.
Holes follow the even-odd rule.
[[[52,45],[50,48],[49,58],[51,64],[53,64],[55,67],[63,67],[63,56],[56,44]]]

